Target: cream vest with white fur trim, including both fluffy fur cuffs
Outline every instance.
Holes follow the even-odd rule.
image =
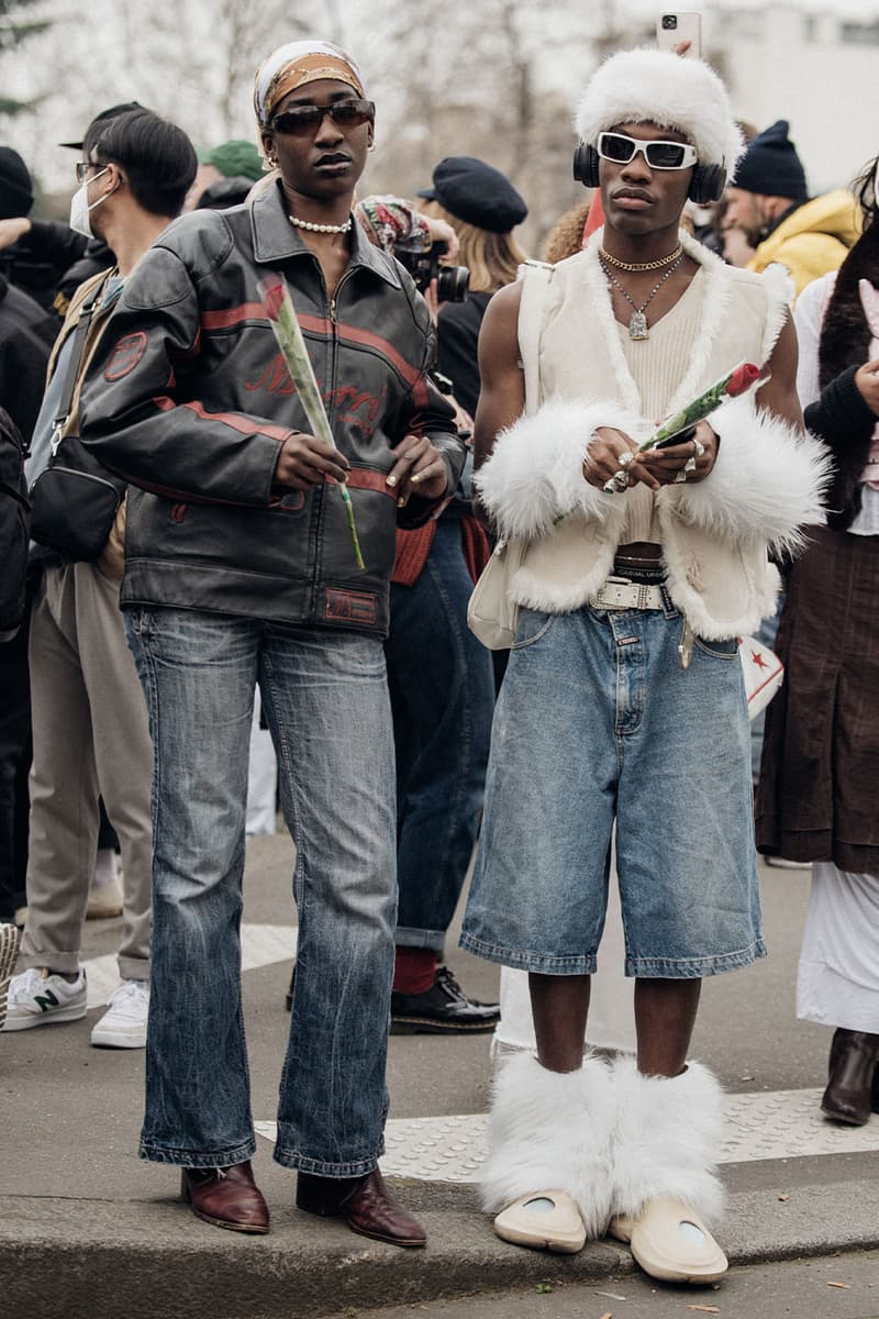
[[[594,431],[615,426],[642,442],[655,429],[619,346],[600,241],[601,231],[555,266],[539,340],[546,401],[501,431],[476,476],[501,534],[528,542],[513,599],[548,612],[577,609],[596,595],[626,521],[626,495],[584,480]],[[696,347],[667,414],[739,361],[763,365],[792,294],[780,266],[756,276],[683,232],[681,243],[704,268],[702,295]],[[824,522],[828,459],[818,441],[756,408],[752,396],[723,404],[712,425],[721,446],[710,475],[663,487],[656,516],[672,600],[698,636],[720,640],[752,632],[775,611],[779,579],[767,551],[799,549],[803,528]]]

